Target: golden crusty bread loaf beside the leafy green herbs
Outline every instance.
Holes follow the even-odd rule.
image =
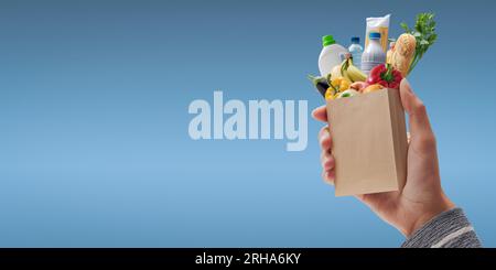
[[[407,77],[411,61],[416,53],[417,41],[411,34],[401,34],[396,41],[391,55],[391,65]]]

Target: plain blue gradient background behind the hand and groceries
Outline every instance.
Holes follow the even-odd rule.
[[[397,247],[403,237],[320,179],[316,132],[193,141],[187,106],[322,102],[321,36],[365,18],[390,36],[436,13],[410,76],[439,141],[443,186],[496,246],[494,1],[0,2],[1,247]],[[309,111],[310,114],[310,111]]]

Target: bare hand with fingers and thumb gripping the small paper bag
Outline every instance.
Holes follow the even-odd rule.
[[[453,208],[454,204],[441,187],[435,138],[425,106],[413,94],[407,79],[400,84],[400,97],[409,116],[410,127],[406,185],[399,192],[364,194],[356,197],[380,218],[409,237],[438,214]],[[327,122],[325,106],[316,108],[312,116]],[[322,148],[322,177],[333,184],[334,158],[327,127],[319,132],[319,141]]]

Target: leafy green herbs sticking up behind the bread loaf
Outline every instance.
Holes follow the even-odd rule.
[[[416,67],[420,58],[428,51],[428,48],[434,44],[438,39],[435,33],[435,21],[433,13],[420,13],[417,15],[416,26],[413,29],[408,28],[407,23],[402,22],[401,28],[406,33],[412,34],[416,37],[417,46],[413,60],[410,64],[409,73]]]

